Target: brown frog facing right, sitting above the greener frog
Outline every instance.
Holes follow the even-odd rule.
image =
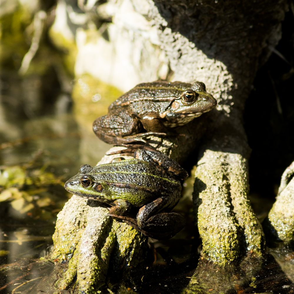
[[[146,143],[148,136],[166,136],[216,106],[201,82],[141,83],[114,101],[108,114],[93,123],[96,136],[110,144]]]

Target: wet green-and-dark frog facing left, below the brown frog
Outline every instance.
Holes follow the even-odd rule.
[[[138,149],[133,159],[81,166],[65,183],[67,191],[112,206],[109,215],[123,220],[145,235],[170,238],[184,226],[184,217],[170,212],[181,198],[187,172],[168,156]],[[130,217],[136,211],[136,218]]]

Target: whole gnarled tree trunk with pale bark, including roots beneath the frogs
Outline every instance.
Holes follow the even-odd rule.
[[[108,39],[75,31],[77,76],[90,73],[124,91],[158,78],[202,81],[218,100],[216,110],[181,127],[183,136],[158,138],[153,146],[179,162],[198,147],[193,203],[203,260],[223,266],[244,255],[261,257],[265,240],[247,198],[250,149],[242,116],[256,70],[280,39],[285,1],[110,0],[90,8],[111,19],[101,26]],[[73,196],[54,234],[51,257],[71,256],[58,287],[69,287],[77,275],[79,290],[94,293],[111,269],[123,265],[128,273],[144,264],[146,242],[106,209]]]

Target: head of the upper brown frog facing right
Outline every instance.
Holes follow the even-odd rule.
[[[175,99],[163,117],[169,126],[183,125],[216,107],[216,99],[206,92],[204,83],[195,82],[185,88]]]

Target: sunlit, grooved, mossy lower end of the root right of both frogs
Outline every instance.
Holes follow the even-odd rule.
[[[240,154],[211,150],[203,158],[193,193],[203,258],[226,265],[244,252],[261,257],[264,236],[247,199],[247,161]]]

